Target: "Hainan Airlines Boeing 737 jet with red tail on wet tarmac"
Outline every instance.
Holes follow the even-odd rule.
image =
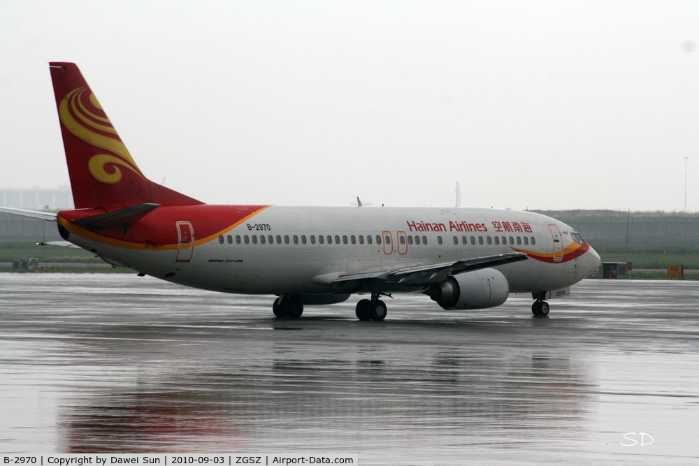
[[[280,319],[354,293],[361,321],[383,296],[424,293],[447,310],[481,310],[531,293],[548,299],[600,264],[574,228],[534,212],[473,207],[210,205],[145,177],[78,66],[51,62],[74,210],[0,207],[52,221],[64,242],[114,266],[224,293],[275,295]]]

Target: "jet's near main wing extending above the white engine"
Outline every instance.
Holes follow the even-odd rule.
[[[405,286],[421,286],[443,282],[449,275],[470,272],[482,268],[496,267],[512,262],[526,261],[523,252],[510,252],[483,256],[459,261],[440,262],[430,265],[407,265],[388,270],[375,270],[343,275],[332,280],[332,284],[343,286],[349,282],[375,281],[386,284],[401,284]]]

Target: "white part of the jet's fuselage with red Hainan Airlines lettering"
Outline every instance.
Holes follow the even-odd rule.
[[[496,267],[510,292],[552,291],[579,282],[599,264],[589,245],[574,240],[570,226],[514,210],[271,206],[206,241],[192,219],[174,218],[169,228],[178,221],[191,224],[193,249],[129,249],[76,235],[70,240],[139,272],[229,293],[328,293],[327,276],[514,251],[530,257]]]

